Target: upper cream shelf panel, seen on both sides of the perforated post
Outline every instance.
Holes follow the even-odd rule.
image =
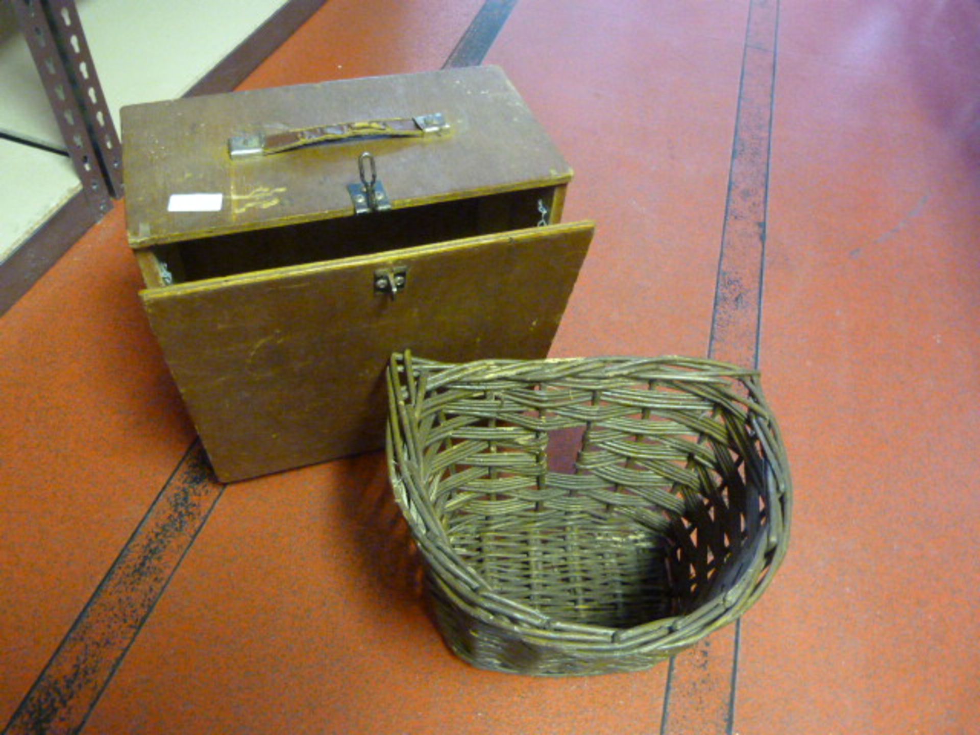
[[[99,80],[124,105],[179,97],[286,0],[77,0]],[[0,132],[64,150],[30,52],[0,2]],[[2,205],[0,205],[2,206]]]

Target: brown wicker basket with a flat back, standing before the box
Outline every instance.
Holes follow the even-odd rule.
[[[395,497],[467,662],[646,668],[745,613],[786,553],[789,470],[752,370],[406,353],[388,378]]]

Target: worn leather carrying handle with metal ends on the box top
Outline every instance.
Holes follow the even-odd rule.
[[[231,158],[271,156],[329,140],[364,137],[417,138],[433,134],[442,135],[447,130],[449,130],[449,123],[446,123],[442,113],[421,115],[417,118],[317,125],[273,133],[236,135],[228,138],[228,155]]]

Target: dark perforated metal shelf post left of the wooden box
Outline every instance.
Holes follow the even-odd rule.
[[[73,0],[12,0],[85,198],[101,214],[123,195],[123,156]]]

